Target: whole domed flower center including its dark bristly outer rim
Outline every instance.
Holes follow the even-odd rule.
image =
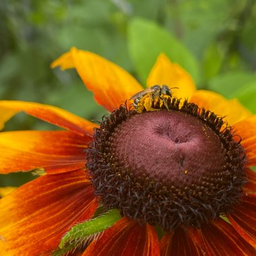
[[[86,167],[106,210],[164,230],[200,226],[241,198],[245,154],[214,113],[175,98],[168,109],[115,110],[95,130]]]

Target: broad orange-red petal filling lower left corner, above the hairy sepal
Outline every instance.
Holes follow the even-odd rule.
[[[46,174],[0,200],[1,255],[49,255],[97,203],[81,170]]]

